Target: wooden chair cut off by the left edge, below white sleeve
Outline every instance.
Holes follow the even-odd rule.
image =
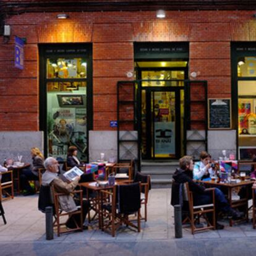
[[[14,177],[12,170],[1,173],[2,180],[0,181],[0,200],[14,198]],[[10,191],[11,190],[11,191]],[[2,197],[6,195],[6,197]]]

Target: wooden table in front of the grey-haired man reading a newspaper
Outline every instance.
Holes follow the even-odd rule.
[[[129,179],[122,179],[119,181],[116,181],[116,184],[125,184],[125,182],[131,182]],[[113,189],[114,186],[105,186],[105,187],[97,187],[95,186],[96,181],[90,181],[90,182],[81,182],[79,183],[80,187],[85,187],[87,189],[87,199],[88,197],[88,190],[92,190],[95,192],[95,201],[96,201],[96,208],[95,210],[95,216],[98,215],[98,223],[99,223],[99,228],[101,229],[102,223],[101,223],[101,190],[108,190],[108,189]]]

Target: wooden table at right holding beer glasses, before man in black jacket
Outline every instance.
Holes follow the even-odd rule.
[[[248,222],[248,198],[249,198],[249,187],[250,185],[254,184],[254,181],[240,181],[236,184],[231,183],[223,183],[223,182],[215,182],[215,181],[200,181],[203,184],[207,184],[210,187],[226,187],[228,189],[228,203],[231,208],[237,208],[237,207],[245,207],[245,218],[243,220],[246,220]],[[232,191],[233,189],[237,187],[246,187],[246,197],[239,199],[239,200],[232,200]],[[229,220],[229,226],[233,226],[233,220]]]

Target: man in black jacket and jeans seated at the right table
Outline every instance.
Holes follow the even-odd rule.
[[[193,193],[194,205],[206,205],[212,202],[211,192],[205,191],[205,187],[202,184],[197,184],[193,180],[193,168],[194,163],[191,156],[183,156],[179,160],[179,169],[176,169],[173,174],[173,179],[177,184],[186,183],[189,184],[189,189]],[[176,195],[179,195],[179,191],[174,191]],[[177,198],[177,202],[179,202],[179,198]],[[223,192],[220,189],[215,188],[215,207],[216,213],[218,211],[223,211],[227,213],[229,218],[238,219],[241,218],[242,215],[239,211],[234,210],[228,204]],[[217,215],[218,216],[218,215]],[[216,223],[217,229],[223,229],[224,226]]]

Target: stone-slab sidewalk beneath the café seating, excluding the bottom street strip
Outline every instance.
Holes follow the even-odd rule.
[[[83,233],[62,234],[54,236],[54,242],[148,242],[148,241],[177,241],[174,239],[173,207],[169,205],[170,189],[152,189],[148,203],[148,221],[142,221],[142,231],[137,233],[127,228],[117,231],[116,237],[99,231],[97,223],[89,226]],[[7,224],[0,218],[0,242],[44,242],[45,215],[37,210],[38,195],[29,197],[18,196],[13,200],[4,201]],[[142,211],[143,213],[143,211]],[[256,230],[252,223],[234,224],[228,226],[228,221],[222,222],[225,228],[220,231],[204,231],[192,235],[189,225],[182,229],[183,239],[186,241],[202,239],[245,239],[255,238]],[[49,241],[48,241],[49,242]],[[52,241],[51,241],[52,242]],[[256,246],[255,246],[256,247]],[[186,252],[184,252],[186,254]]]

